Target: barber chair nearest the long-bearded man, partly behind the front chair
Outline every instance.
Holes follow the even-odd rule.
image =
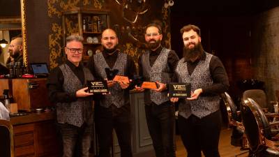
[[[225,103],[226,109],[227,109],[227,118],[229,121],[229,128],[232,128],[233,132],[237,132],[238,136],[240,134],[240,140],[241,140],[241,150],[248,149],[248,144],[246,137],[244,135],[244,127],[242,122],[240,121],[239,114],[240,111],[236,110],[236,105],[234,104],[234,101],[232,100],[231,96],[227,92],[224,94],[221,94],[221,97]],[[233,135],[232,135],[233,136]],[[233,138],[232,138],[233,140]],[[239,140],[238,140],[239,141]],[[237,142],[240,143],[240,142]],[[232,142],[231,142],[232,144]],[[239,146],[239,144],[232,144],[235,146]],[[241,156],[242,154],[246,154],[248,151],[242,152],[241,154],[236,154],[236,156]]]

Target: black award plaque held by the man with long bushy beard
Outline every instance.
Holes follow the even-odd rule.
[[[190,83],[169,83],[169,98],[190,98]]]

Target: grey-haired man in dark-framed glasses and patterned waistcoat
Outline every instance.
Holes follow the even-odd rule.
[[[87,80],[94,77],[82,66],[82,36],[66,38],[66,63],[52,70],[47,80],[49,98],[56,103],[56,116],[63,140],[63,157],[88,157],[93,130],[92,95]],[[76,151],[76,152],[75,152]]]

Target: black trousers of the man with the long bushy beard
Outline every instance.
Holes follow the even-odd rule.
[[[188,157],[219,157],[218,144],[222,119],[220,110],[202,119],[191,115],[188,119],[179,115],[179,133]]]

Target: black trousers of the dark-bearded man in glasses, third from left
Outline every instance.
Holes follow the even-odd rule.
[[[145,105],[149,133],[156,157],[174,157],[175,108],[169,101],[161,105]]]

